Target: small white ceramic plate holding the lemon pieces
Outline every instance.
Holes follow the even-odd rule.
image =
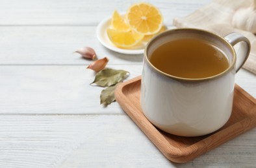
[[[144,53],[144,48],[146,44],[141,44],[141,45],[136,45],[136,47],[129,48],[129,49],[123,49],[123,48],[118,48],[112,42],[110,41],[109,37],[107,36],[107,28],[109,28],[110,23],[111,23],[111,17],[108,17],[107,19],[104,19],[97,25],[97,39],[99,42],[109,48],[110,50],[113,50],[114,52],[119,52],[122,54],[143,54]]]

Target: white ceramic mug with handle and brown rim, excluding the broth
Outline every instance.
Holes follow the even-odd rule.
[[[166,74],[149,61],[152,52],[174,39],[202,39],[222,50],[229,67],[216,76],[189,79]],[[240,43],[236,54],[233,46]],[[201,136],[220,129],[231,116],[235,74],[250,53],[250,41],[237,33],[220,37],[205,30],[178,28],[152,39],[144,52],[140,103],[146,118],[162,131]]]

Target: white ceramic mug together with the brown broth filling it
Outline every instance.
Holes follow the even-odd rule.
[[[233,48],[240,44],[238,53]],[[168,30],[144,52],[140,103],[162,131],[201,136],[229,120],[235,74],[250,53],[250,41],[231,33],[220,37],[196,28]]]

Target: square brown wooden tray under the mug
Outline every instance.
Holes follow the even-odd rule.
[[[188,162],[256,126],[255,98],[235,85],[231,118],[218,131],[198,137],[175,136],[160,131],[147,120],[140,108],[140,79],[141,77],[138,76],[118,85],[115,91],[116,101],[162,154],[172,162]]]

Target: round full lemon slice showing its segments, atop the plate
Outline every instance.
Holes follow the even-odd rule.
[[[126,14],[127,22],[131,28],[140,34],[150,35],[159,32],[162,27],[162,14],[153,5],[136,3]]]

